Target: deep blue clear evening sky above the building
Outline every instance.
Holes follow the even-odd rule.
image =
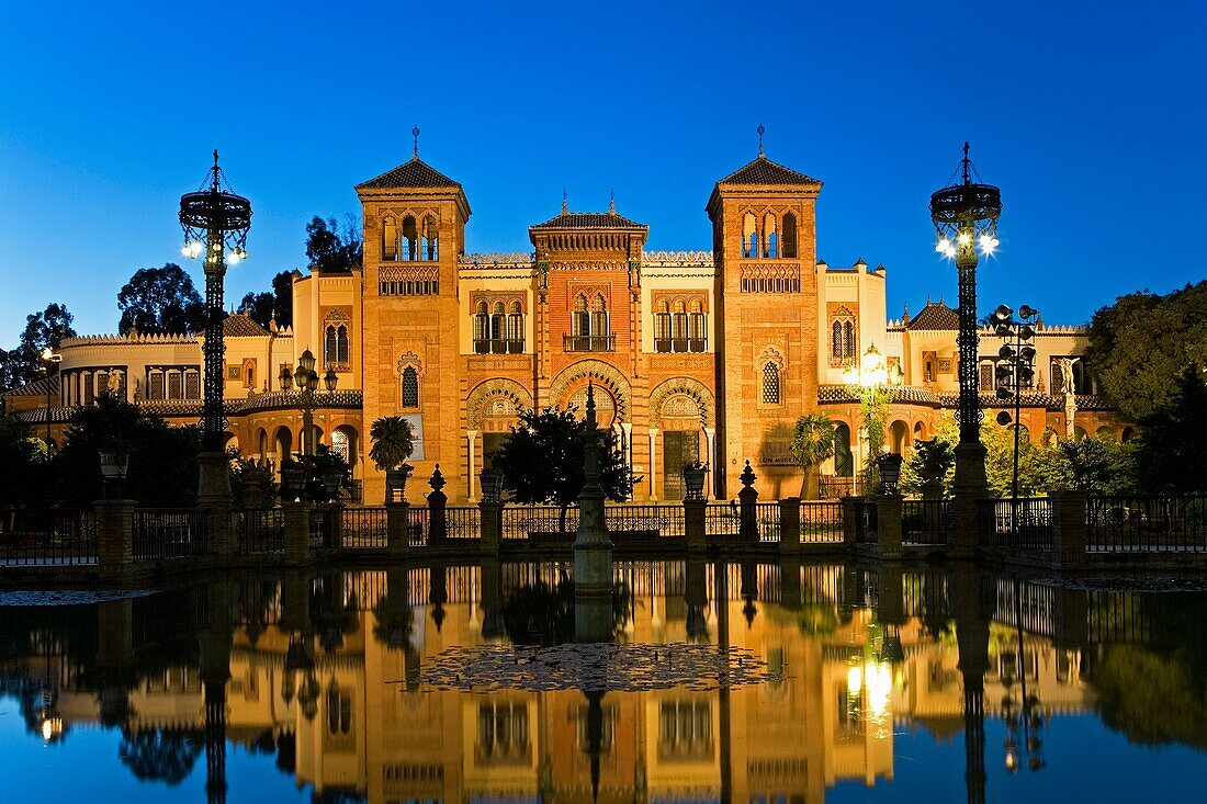
[[[0,345],[62,301],[117,325],[181,262],[179,196],[218,147],[256,215],[229,299],[304,267],[314,214],[420,153],[465,185],[468,250],[607,208],[707,249],[712,182],[756,155],[826,182],[818,254],[884,263],[890,311],[955,296],[927,200],[973,142],[1005,203],[984,309],[1081,322],[1203,276],[1201,4],[24,2],[0,25]]]

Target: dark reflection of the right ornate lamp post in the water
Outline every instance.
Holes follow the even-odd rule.
[[[956,640],[964,688],[964,783],[968,804],[985,800],[985,670],[989,668],[989,621],[980,600],[980,576],[956,572]]]

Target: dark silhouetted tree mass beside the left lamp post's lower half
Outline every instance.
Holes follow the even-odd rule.
[[[91,506],[105,495],[99,454],[126,453],[124,496],[148,507],[191,507],[197,501],[200,447],[197,427],[171,427],[112,394],[100,394],[95,404],[76,410],[65,443],[52,459],[52,476],[59,500]]]

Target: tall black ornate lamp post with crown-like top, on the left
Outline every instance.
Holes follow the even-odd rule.
[[[226,187],[226,188],[223,188]],[[247,229],[251,228],[251,202],[229,190],[226,174],[214,167],[202,190],[180,197],[180,226],[185,231],[181,254],[203,257],[205,270],[205,388],[202,397],[202,473],[198,499],[204,505],[229,502],[231,482],[222,451],[226,416],[222,408],[225,383],[222,342],[222,282],[227,266],[247,258]]]

